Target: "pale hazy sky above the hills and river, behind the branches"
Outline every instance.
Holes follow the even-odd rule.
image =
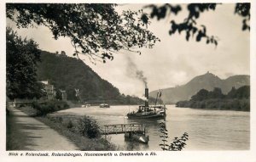
[[[130,8],[142,8],[139,4],[123,4],[118,11]],[[183,21],[186,15],[186,6],[177,17],[168,17],[166,20],[151,20],[149,30],[158,36],[152,49],[143,49],[142,54],[119,53],[114,55],[113,61],[107,64],[91,64],[87,57],[81,57],[84,62],[96,71],[103,79],[118,87],[120,92],[130,95],[143,95],[143,81],[137,80],[131,74],[129,64],[135,64],[138,70],[143,71],[147,78],[149,91],[165,87],[175,87],[191,80],[195,75],[203,75],[207,71],[225,79],[230,75],[249,75],[249,44],[248,31],[241,31],[241,17],[234,14],[234,4],[218,5],[215,12],[201,14],[198,25],[206,25],[209,35],[218,36],[218,47],[207,45],[204,41],[187,42],[184,35],[169,36],[170,20]],[[8,25],[10,25],[8,21]],[[15,29],[15,26],[14,26]],[[68,38],[59,38],[55,41],[46,27],[37,29],[15,29],[21,36],[33,38],[43,50],[53,52],[66,51],[72,55],[74,49]],[[130,64],[131,65],[131,64]]]

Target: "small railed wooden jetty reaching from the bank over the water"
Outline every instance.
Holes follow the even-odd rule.
[[[143,133],[145,134],[145,126],[142,124],[117,124],[100,126],[102,135],[123,134],[123,133]]]

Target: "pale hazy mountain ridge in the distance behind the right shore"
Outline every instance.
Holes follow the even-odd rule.
[[[187,84],[179,87],[161,89],[164,103],[177,103],[182,100],[189,100],[191,96],[202,88],[212,91],[214,87],[221,88],[223,93],[227,93],[232,87],[242,87],[250,85],[249,75],[233,75],[227,79],[220,79],[217,75],[207,72],[204,75],[195,76]],[[158,91],[149,92],[150,97],[155,97]]]

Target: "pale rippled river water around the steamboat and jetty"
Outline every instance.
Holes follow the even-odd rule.
[[[56,112],[55,115],[89,115],[99,125],[145,124],[148,144],[125,142],[124,134],[110,135],[108,140],[120,150],[161,150],[160,122],[166,122],[168,143],[174,137],[189,134],[183,150],[246,150],[250,148],[250,113],[226,110],[204,110],[166,106],[165,120],[130,120],[125,116],[137,106],[111,106],[111,108],[73,108]]]

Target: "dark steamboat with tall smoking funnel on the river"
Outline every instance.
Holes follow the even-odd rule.
[[[166,106],[156,105],[157,99],[160,98],[161,93],[157,93],[155,104],[152,106],[148,105],[148,88],[145,88],[145,105],[139,106],[137,112],[133,111],[127,114],[128,119],[165,119],[166,118]]]

